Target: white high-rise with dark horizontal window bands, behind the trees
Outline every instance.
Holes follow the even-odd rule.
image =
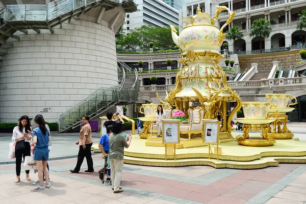
[[[138,12],[127,14],[123,28],[126,33],[143,25],[179,26],[179,11],[159,0],[136,0]]]

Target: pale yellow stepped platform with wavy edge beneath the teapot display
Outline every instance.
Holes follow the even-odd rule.
[[[235,137],[239,135],[236,134]],[[221,143],[219,147],[222,148],[222,154],[219,155],[219,161],[216,160],[215,152],[211,154],[212,159],[208,159],[207,146],[176,149],[176,160],[173,154],[168,154],[168,160],[165,161],[165,147],[146,146],[146,142],[147,140],[135,135],[130,147],[124,150],[124,163],[165,167],[208,165],[235,169],[257,169],[278,166],[279,163],[306,163],[306,143],[299,142],[297,138],[277,140],[269,147],[247,147],[236,141]],[[216,145],[211,146],[214,149]],[[97,145],[93,145],[92,150],[99,151]]]

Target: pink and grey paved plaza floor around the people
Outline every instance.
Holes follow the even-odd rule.
[[[289,123],[295,137],[306,142],[304,123]],[[6,137],[7,135],[7,137]],[[0,201],[6,203],[306,203],[306,164],[280,164],[256,170],[215,169],[209,166],[149,167],[124,164],[122,187],[114,194],[101,182],[101,153],[93,154],[93,173],[71,174],[77,162],[78,133],[53,133],[50,151],[50,189],[35,191],[31,182],[14,184],[14,160],[8,160],[11,135],[0,136]],[[94,133],[97,143],[99,134]],[[133,141],[132,141],[133,142]],[[306,151],[306,150],[305,150]]]

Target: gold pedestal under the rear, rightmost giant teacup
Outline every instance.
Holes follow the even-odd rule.
[[[294,134],[287,127],[288,116],[285,113],[274,113],[269,117],[276,118],[276,121],[272,123],[273,129],[268,133],[268,137],[274,139],[292,139],[294,137]]]

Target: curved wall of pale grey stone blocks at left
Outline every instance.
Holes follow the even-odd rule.
[[[47,122],[96,89],[118,85],[114,31],[107,21],[72,19],[54,34],[16,32],[0,67],[0,121],[43,114]],[[45,112],[44,112],[45,110]]]

